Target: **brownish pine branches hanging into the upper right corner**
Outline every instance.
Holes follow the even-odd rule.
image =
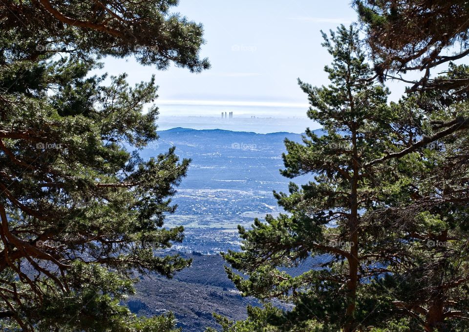
[[[453,72],[448,63],[469,55],[469,3],[464,0],[355,0],[366,27],[377,75],[411,84],[415,90],[461,90],[469,77],[436,79],[436,72]],[[418,79],[403,78],[416,71]],[[433,77],[432,77],[433,74]]]

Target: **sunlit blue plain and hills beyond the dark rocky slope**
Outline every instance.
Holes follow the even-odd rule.
[[[272,191],[288,190],[289,179],[279,173],[283,168],[283,141],[300,141],[300,134],[185,128],[158,134],[160,139],[141,152],[143,157],[175,146],[177,155],[192,159],[187,177],[173,199],[177,211],[165,223],[186,227],[186,241],[178,246],[180,249],[203,253],[233,249],[238,245],[238,224],[249,226],[254,218],[282,212]],[[295,182],[309,179],[301,177]]]

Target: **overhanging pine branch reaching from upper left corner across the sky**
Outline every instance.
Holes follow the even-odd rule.
[[[205,43],[200,23],[171,9],[177,0],[8,1],[0,4],[1,30],[9,42],[4,57],[37,60],[55,53],[80,57],[135,56],[166,69],[171,62],[200,72]]]

